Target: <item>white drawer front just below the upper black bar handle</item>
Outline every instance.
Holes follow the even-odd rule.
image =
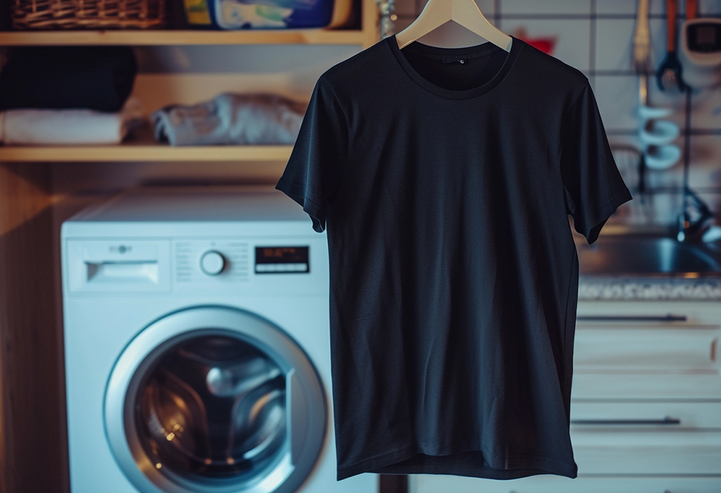
[[[717,325],[579,324],[575,368],[718,368]]]

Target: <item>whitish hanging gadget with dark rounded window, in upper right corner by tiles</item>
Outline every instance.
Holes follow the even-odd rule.
[[[721,19],[696,19],[696,0],[686,1],[678,61],[684,68],[684,82],[692,88],[704,89],[721,83]]]

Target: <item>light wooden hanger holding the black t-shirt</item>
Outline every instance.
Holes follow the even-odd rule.
[[[474,0],[428,0],[417,19],[396,34],[398,48],[410,45],[451,20],[510,52],[513,38],[488,22]]]

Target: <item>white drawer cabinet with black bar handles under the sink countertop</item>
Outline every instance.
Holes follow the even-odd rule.
[[[721,303],[582,301],[578,314],[570,416],[578,478],[421,475],[410,492],[721,491]]]

